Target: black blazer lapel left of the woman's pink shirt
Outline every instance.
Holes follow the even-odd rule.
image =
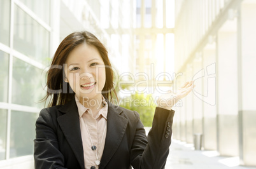
[[[75,97],[68,104],[60,107],[59,111],[65,113],[57,118],[60,128],[64,133],[71,149],[75,153],[76,159],[78,159],[81,168],[84,168],[83,144]]]

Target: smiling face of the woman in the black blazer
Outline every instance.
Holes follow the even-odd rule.
[[[80,44],[69,53],[65,64],[65,81],[80,100],[101,99],[106,72],[103,59],[95,46]]]

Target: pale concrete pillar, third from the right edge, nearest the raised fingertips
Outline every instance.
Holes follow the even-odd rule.
[[[203,50],[203,146],[207,150],[217,150],[215,64],[216,48],[213,43]]]

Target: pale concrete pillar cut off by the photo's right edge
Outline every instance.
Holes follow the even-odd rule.
[[[239,157],[256,166],[256,2],[243,1],[238,20]]]

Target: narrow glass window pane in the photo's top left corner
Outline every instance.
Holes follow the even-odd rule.
[[[10,43],[10,2],[0,1],[0,43],[9,46]]]

